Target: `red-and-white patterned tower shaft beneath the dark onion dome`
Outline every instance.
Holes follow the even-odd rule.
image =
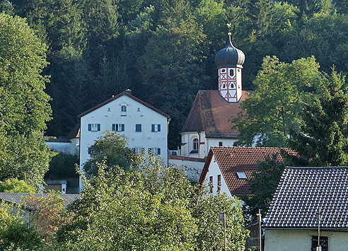
[[[219,92],[227,102],[237,102],[236,69],[219,69]]]

